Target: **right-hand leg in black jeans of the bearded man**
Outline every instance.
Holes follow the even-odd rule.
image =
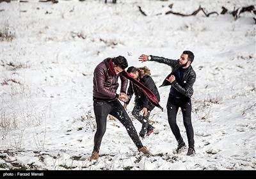
[[[184,127],[186,128],[186,134],[188,136],[188,146],[189,148],[194,148],[194,130],[191,121],[191,100],[186,100],[183,102],[181,111],[183,116]]]

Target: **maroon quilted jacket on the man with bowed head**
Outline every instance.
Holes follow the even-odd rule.
[[[118,97],[116,90],[118,89],[118,77],[121,80],[120,91],[126,93],[128,80],[118,74],[114,77],[108,69],[108,62],[111,58],[104,59],[96,66],[93,72],[93,97],[104,100],[111,100]],[[119,94],[119,93],[118,93]]]

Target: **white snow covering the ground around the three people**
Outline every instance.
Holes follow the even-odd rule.
[[[255,170],[256,29],[253,12],[237,20],[221,7],[255,1],[59,1],[1,3],[0,170]],[[168,7],[173,4],[172,8]],[[141,10],[146,13],[143,15]],[[172,10],[191,14],[182,17]],[[170,87],[161,87],[162,112],[150,115],[154,133],[142,140],[151,155],[138,152],[124,126],[108,119],[99,160],[90,161],[96,123],[93,70],[103,59],[125,56],[129,66],[150,68],[160,86],[170,67],[141,63],[141,54],[178,59],[195,54],[192,98],[193,157],[177,155],[168,125]],[[140,131],[141,124],[127,112]],[[186,144],[179,111],[177,123]],[[14,162],[6,162],[12,161]],[[15,165],[14,165],[15,164]]]

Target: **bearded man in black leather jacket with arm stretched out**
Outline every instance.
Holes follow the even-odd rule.
[[[171,85],[166,108],[169,125],[178,143],[176,152],[180,153],[186,148],[176,121],[180,107],[188,137],[189,148],[187,155],[189,156],[195,155],[194,130],[191,122],[191,96],[193,95],[193,84],[196,81],[196,73],[191,66],[194,57],[191,51],[182,52],[180,59],[168,59],[159,56],[147,56],[145,54],[139,57],[139,61],[142,63],[145,61],[156,61],[172,67],[172,72],[164,79],[161,86]]]

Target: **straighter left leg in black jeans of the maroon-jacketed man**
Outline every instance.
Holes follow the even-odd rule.
[[[93,151],[99,153],[102,137],[106,132],[107,118],[111,111],[111,105],[108,102],[93,102],[93,110],[97,124],[97,130],[94,135]]]

